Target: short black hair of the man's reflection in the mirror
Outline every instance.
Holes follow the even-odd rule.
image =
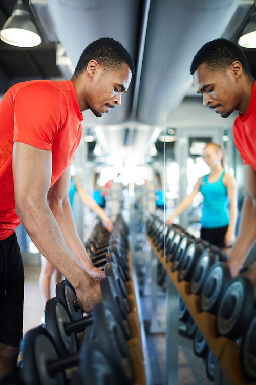
[[[190,66],[190,75],[194,75],[200,64],[206,63],[208,68],[216,72],[225,72],[227,67],[238,60],[248,78],[251,71],[243,51],[227,39],[215,39],[203,45],[194,57]]]

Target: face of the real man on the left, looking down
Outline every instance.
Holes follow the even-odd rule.
[[[96,117],[108,113],[110,108],[121,104],[121,95],[126,92],[132,79],[132,72],[126,63],[117,70],[104,72],[94,80],[87,93],[87,104]]]

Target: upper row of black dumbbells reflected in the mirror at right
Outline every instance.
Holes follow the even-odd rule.
[[[146,226],[158,251],[163,250],[166,263],[172,262],[172,272],[178,270],[178,281],[188,281],[190,293],[200,296],[200,311],[216,316],[216,335],[241,341],[243,372],[248,380],[255,381],[256,310],[252,282],[242,275],[243,271],[231,279],[225,253],[185,229],[166,226],[154,216]]]

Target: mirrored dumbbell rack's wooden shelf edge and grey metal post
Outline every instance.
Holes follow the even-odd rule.
[[[184,340],[184,338],[177,336],[179,295],[216,358],[215,384],[256,385],[255,382],[247,382],[244,378],[240,367],[240,348],[237,342],[216,336],[215,315],[206,312],[200,313],[199,296],[190,294],[188,282],[178,282],[178,271],[172,272],[172,262],[165,263],[162,251],[158,252],[152,241],[151,249],[152,253],[165,266],[167,272],[166,385],[178,385],[178,345],[181,339]]]

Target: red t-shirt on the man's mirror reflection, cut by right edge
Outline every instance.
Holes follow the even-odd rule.
[[[256,82],[247,111],[239,113],[234,121],[233,138],[243,164],[250,164],[256,171]]]

